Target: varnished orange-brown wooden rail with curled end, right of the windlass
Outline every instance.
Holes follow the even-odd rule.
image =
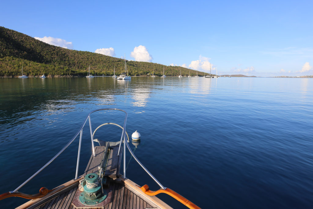
[[[140,186],[138,186],[138,187],[141,188],[141,191],[143,191],[146,195],[155,196],[155,195],[160,194],[160,193],[165,193],[165,194],[168,194],[169,196],[172,196],[174,199],[180,201],[182,204],[184,204],[188,208],[200,209],[200,207],[198,207],[197,205],[195,205],[191,201],[187,200],[185,197],[181,196],[180,194],[178,194],[177,192],[175,192],[169,188],[166,188],[165,190],[159,189],[157,191],[151,191],[151,190],[149,190],[148,185],[143,185],[142,187],[140,187]]]

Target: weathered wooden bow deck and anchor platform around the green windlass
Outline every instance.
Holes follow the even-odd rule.
[[[109,144],[107,144],[109,145]],[[71,180],[63,185],[60,185],[43,198],[31,200],[19,206],[18,208],[31,209],[145,209],[145,208],[171,208],[166,203],[155,196],[145,195],[140,188],[131,180],[126,180],[119,174],[121,155],[117,156],[118,145],[114,146],[97,146],[95,147],[95,157],[90,157],[89,163],[84,172],[85,176],[88,173],[98,172],[98,166],[105,168],[105,176],[108,177],[108,183],[104,186],[104,190],[109,194],[107,199],[99,206],[87,206],[77,202],[81,191],[78,189],[79,179]],[[99,203],[100,205],[101,203]]]

